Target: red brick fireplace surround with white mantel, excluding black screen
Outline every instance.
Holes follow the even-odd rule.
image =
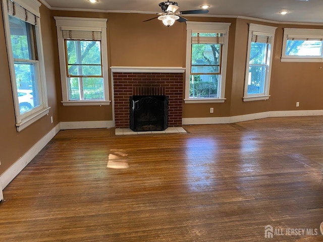
[[[185,68],[111,67],[116,128],[129,128],[132,95],[169,97],[168,127],[182,126]]]

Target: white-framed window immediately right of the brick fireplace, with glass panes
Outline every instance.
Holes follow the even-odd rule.
[[[185,103],[224,102],[230,23],[186,22]]]

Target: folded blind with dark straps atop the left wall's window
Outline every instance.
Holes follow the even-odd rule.
[[[22,21],[30,23],[32,25],[37,25],[39,22],[39,17],[28,11],[27,9],[23,8],[15,1],[8,0],[8,14],[14,16]]]

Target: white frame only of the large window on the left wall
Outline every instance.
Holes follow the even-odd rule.
[[[9,15],[8,15],[8,5],[7,0],[2,0],[2,9],[3,9],[3,18],[5,25],[5,35],[6,35],[6,45],[7,45],[7,54],[9,61],[9,70],[11,77],[11,85],[13,90],[13,99],[15,106],[15,115],[16,115],[16,128],[20,132],[23,129],[27,128],[29,125],[36,122],[44,115],[48,114],[48,99],[47,99],[47,90],[46,90],[46,78],[45,78],[45,65],[43,57],[43,47],[42,47],[42,38],[41,38],[41,27],[40,27],[40,13],[39,7],[41,4],[36,0],[14,0],[15,3],[19,4],[24,9],[28,10],[32,14],[38,17],[37,25],[35,26],[35,35],[36,35],[36,44],[38,50],[38,91],[39,91],[39,100],[41,101],[40,105],[36,108],[33,108],[30,111],[20,114],[18,92],[17,92],[17,83],[16,83],[16,74],[14,66],[14,55],[12,51],[11,36],[10,36],[10,26],[9,26]]]

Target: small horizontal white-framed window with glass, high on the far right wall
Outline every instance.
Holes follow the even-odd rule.
[[[322,29],[284,29],[282,62],[321,62]]]

